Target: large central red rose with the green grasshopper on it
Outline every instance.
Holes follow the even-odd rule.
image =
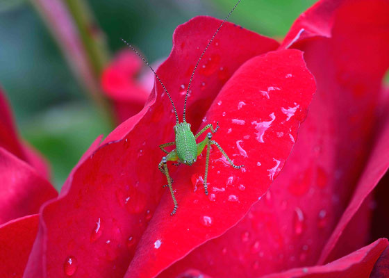
[[[320,1],[281,46],[226,23],[195,74],[187,119],[192,131],[220,122],[213,139],[245,167],[213,149],[207,196],[205,159],[169,164],[170,216],[158,145],[174,140],[175,117],[156,83],[42,206],[24,277],[385,277],[388,240],[371,243],[369,202],[389,166],[388,14],[387,0]],[[181,85],[219,25],[179,26],[158,69],[180,117]],[[22,224],[15,231],[36,229]]]

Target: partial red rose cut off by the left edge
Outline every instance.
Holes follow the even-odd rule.
[[[34,149],[19,139],[0,88],[0,273],[22,277],[38,230],[40,206],[58,193]]]

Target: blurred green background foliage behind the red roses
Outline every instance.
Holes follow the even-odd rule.
[[[114,54],[128,40],[151,62],[167,57],[177,25],[224,18],[236,0],[90,0]],[[243,0],[230,20],[281,38],[313,0]],[[110,126],[85,97],[44,23],[25,0],[0,0],[0,83],[22,136],[44,154],[60,188],[92,141]]]

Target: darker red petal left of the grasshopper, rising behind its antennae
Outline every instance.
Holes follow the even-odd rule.
[[[201,54],[200,47],[205,47],[219,24],[220,20],[211,17],[197,17],[176,29],[172,55],[159,67],[158,75],[176,104],[180,104],[179,111],[183,104],[179,88],[190,78],[189,70]],[[196,44],[185,44],[189,40]],[[194,129],[233,72],[245,60],[278,45],[233,24],[224,26],[216,42],[220,43],[219,47],[210,48],[209,55],[220,55],[219,63],[225,70],[218,66],[212,76],[194,79],[188,102],[188,120]],[[201,81],[208,85],[204,90]],[[140,113],[119,125],[79,165],[69,181],[67,193],[43,208],[41,229],[25,277],[63,275],[69,256],[77,261],[77,275],[124,275],[140,236],[165,192],[162,188],[165,181],[157,169],[163,153],[157,150],[158,144],[174,136],[174,115],[167,96],[161,97],[163,89],[160,85],[156,89],[158,94],[154,91]]]

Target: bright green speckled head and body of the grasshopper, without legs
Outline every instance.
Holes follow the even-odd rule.
[[[176,153],[181,163],[192,165],[197,158],[197,144],[195,136],[190,130],[190,124],[181,122],[174,126],[176,133]]]

